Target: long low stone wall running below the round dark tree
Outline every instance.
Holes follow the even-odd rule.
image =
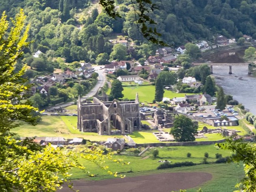
[[[219,141],[190,141],[190,142],[175,142],[175,143],[146,143],[150,147],[170,147],[170,146],[193,146],[193,145],[211,145],[215,143],[223,143],[226,139],[222,139]],[[136,147],[143,147],[145,143],[138,144],[136,143]]]

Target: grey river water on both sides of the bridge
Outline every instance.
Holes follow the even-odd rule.
[[[244,50],[215,53],[208,60],[216,63],[240,63],[243,62],[243,53]],[[248,66],[232,66],[232,75],[228,72],[229,66],[213,66],[216,84],[223,88],[225,94],[232,95],[233,99],[256,114],[256,77],[248,75]]]

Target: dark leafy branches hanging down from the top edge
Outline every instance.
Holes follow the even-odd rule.
[[[167,45],[165,42],[159,40],[161,34],[157,32],[157,23],[150,16],[148,16],[148,13],[152,13],[155,9],[158,9],[157,5],[153,4],[151,0],[136,0],[136,2],[131,0],[131,3],[140,34],[142,34],[144,38],[153,44],[162,46]],[[115,1],[100,0],[99,4],[103,6],[103,9],[110,17],[121,17],[118,11],[116,11],[116,7],[114,5]]]

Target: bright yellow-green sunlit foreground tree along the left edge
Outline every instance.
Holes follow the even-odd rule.
[[[38,109],[28,105],[26,94],[23,94],[27,89],[23,78],[26,65],[15,72],[17,60],[28,46],[28,28],[24,29],[24,21],[22,10],[12,20],[11,28],[5,13],[0,19],[0,189],[6,192],[54,192],[67,181],[68,171],[80,166],[77,158],[100,165],[102,158],[108,156],[91,149],[77,155],[72,151],[54,149],[51,145],[42,147],[33,139],[16,141],[13,138],[12,128],[22,122],[35,125],[39,119]]]

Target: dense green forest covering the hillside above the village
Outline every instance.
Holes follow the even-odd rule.
[[[256,38],[256,0],[161,0],[155,4],[158,9],[148,15],[156,21],[162,40],[174,47],[198,40],[211,43],[216,34]],[[130,0],[117,0],[121,18],[113,19],[90,0],[0,0],[0,11],[6,11],[8,17],[24,9],[32,41],[24,57],[28,65],[48,71],[52,66],[61,68],[51,63],[58,57],[67,62],[106,64],[110,59],[139,59],[153,54],[157,47],[138,32],[135,6]],[[108,41],[117,35],[134,42],[133,47],[123,49],[125,55],[118,55],[120,47],[113,49]],[[46,64],[41,68],[31,57],[38,50],[45,53],[41,63]]]

